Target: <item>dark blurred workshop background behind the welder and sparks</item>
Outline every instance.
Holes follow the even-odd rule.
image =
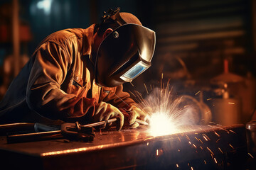
[[[252,118],[255,0],[1,0],[0,99],[43,38],[65,28],[87,28],[117,7],[156,31],[152,67],[124,84],[126,91],[144,96],[170,84],[176,94],[210,108],[218,123]]]

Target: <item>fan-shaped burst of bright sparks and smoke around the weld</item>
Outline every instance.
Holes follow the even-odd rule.
[[[144,86],[146,88],[146,84]],[[137,97],[142,110],[149,113],[149,134],[154,137],[182,132],[181,126],[195,125],[199,120],[193,116],[194,109],[186,102],[187,98],[174,95],[169,84],[154,88],[146,98],[138,93]]]

